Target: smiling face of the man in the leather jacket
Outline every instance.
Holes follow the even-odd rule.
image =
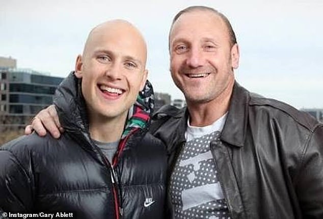
[[[187,104],[217,99],[232,89],[237,44],[230,45],[222,18],[207,10],[185,12],[170,32],[170,70]]]

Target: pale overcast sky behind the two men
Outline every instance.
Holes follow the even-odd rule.
[[[173,16],[191,5],[216,8],[231,21],[240,85],[296,108],[323,108],[322,0],[0,0],[0,56],[16,59],[18,68],[65,77],[89,31],[122,18],[147,40],[155,92],[183,98],[169,73],[167,36]]]

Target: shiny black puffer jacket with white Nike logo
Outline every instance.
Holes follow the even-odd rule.
[[[152,94],[147,81],[110,165],[90,138],[80,81],[71,73],[54,100],[61,138],[32,134],[0,147],[0,215],[163,218],[167,158],[165,145],[147,132]]]

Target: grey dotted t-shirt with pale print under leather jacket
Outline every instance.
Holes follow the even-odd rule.
[[[210,151],[210,142],[219,141],[220,133],[194,138],[183,147],[170,182],[175,218],[230,218]]]

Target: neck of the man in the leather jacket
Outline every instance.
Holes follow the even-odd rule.
[[[226,114],[229,109],[233,85],[234,80],[230,81],[226,89],[211,101],[204,103],[187,102],[187,109],[190,113],[190,125],[207,126]]]

